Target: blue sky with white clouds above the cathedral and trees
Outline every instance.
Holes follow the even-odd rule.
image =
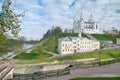
[[[85,21],[93,14],[103,30],[120,30],[120,0],[12,0],[16,13],[25,12],[20,35],[28,40],[40,39],[52,26],[72,28],[74,16]]]

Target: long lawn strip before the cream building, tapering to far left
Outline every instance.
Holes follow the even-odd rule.
[[[27,54],[28,55],[28,54]],[[53,62],[53,61],[65,61],[65,60],[77,60],[77,59],[86,59],[86,58],[99,58],[99,54],[97,51],[90,52],[87,54],[76,54],[69,55],[64,57],[52,58],[48,60],[32,60],[29,62],[19,62],[18,64],[34,64],[34,63],[42,63],[42,62]],[[120,49],[114,50],[104,50],[101,52],[101,59],[111,59],[111,58],[120,58]]]

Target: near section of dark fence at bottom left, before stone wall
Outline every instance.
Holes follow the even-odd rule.
[[[62,76],[70,74],[70,69],[62,69],[49,72],[35,72],[34,74],[14,74],[13,80],[40,80],[53,76]]]

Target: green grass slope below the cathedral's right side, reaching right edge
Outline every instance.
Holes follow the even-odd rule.
[[[116,38],[120,38],[120,35],[112,35],[112,34],[92,34],[98,40],[106,40],[106,41],[113,41],[116,43]]]

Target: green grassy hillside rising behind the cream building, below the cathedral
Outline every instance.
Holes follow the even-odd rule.
[[[55,47],[54,50],[52,52],[54,53],[58,53],[57,52],[57,44],[58,44],[58,39],[62,38],[62,37],[66,37],[66,36],[74,36],[77,37],[78,34],[76,33],[60,33],[60,34],[56,34],[53,37],[55,37]],[[87,37],[86,35],[82,34],[83,37]],[[113,41],[114,43],[116,43],[116,38],[120,38],[120,35],[111,35],[111,34],[92,34],[93,37],[95,37],[98,40],[102,40],[102,41]],[[49,51],[49,45],[51,40],[51,36],[45,41],[45,43],[43,43],[43,47]]]

